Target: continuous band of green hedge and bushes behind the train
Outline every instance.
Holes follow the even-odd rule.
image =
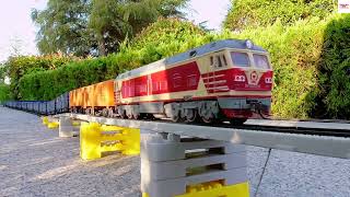
[[[45,66],[20,61],[25,57],[10,59],[8,67],[14,67],[9,69],[11,92],[22,100],[51,100],[212,40],[250,38],[271,56],[275,116],[349,119],[350,16],[335,14],[331,0],[234,2],[222,33],[205,31],[185,20],[161,18],[132,31],[138,32],[135,36],[119,37],[118,53],[104,57],[54,57]],[[34,61],[43,62],[40,58]]]

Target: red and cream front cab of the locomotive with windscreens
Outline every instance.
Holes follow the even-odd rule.
[[[270,114],[272,68],[267,51],[256,50],[246,42],[246,48],[218,51],[210,57],[210,65],[215,77],[209,89],[229,120]]]

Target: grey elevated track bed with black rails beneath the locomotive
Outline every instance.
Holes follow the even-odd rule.
[[[61,114],[84,121],[140,128],[143,131],[167,132],[202,139],[280,149],[293,152],[350,159],[350,125],[315,121],[249,120],[245,126],[189,125],[168,121],[130,120]]]

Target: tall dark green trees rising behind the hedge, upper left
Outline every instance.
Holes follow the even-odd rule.
[[[184,16],[188,0],[49,0],[32,18],[43,54],[106,55],[159,16]]]

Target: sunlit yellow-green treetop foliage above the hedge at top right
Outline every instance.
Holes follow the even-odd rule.
[[[314,16],[327,18],[337,7],[334,0],[232,0],[224,21],[230,30],[272,25],[280,21],[290,25]]]

